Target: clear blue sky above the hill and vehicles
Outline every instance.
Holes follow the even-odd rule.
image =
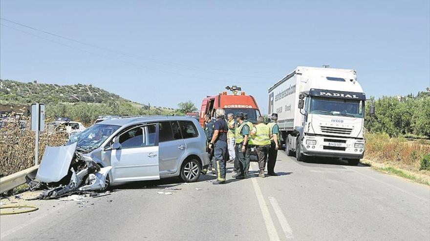
[[[167,107],[186,100],[200,107],[206,95],[237,84],[257,98],[264,113],[267,89],[296,66],[355,69],[368,96],[430,86],[429,0],[0,4],[1,18],[117,51],[1,20],[63,44],[1,26],[2,79],[93,84]]]

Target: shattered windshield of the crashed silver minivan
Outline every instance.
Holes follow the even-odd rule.
[[[98,148],[108,137],[118,130],[120,126],[113,125],[92,125],[79,134],[70,136],[68,144],[77,142],[77,148],[91,151]]]

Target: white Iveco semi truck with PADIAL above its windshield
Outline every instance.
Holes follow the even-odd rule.
[[[358,165],[365,101],[354,70],[297,67],[269,89],[269,116],[278,113],[281,144],[298,161],[335,157]]]

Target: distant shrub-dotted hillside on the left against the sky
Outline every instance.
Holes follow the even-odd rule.
[[[0,79],[0,97],[4,103],[109,103],[128,102],[143,107],[139,103],[131,102],[117,94],[110,93],[92,85],[57,85],[36,82],[23,83],[14,80]]]

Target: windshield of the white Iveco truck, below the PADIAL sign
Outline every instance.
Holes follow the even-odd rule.
[[[311,114],[364,117],[364,101],[326,97],[312,97]]]

